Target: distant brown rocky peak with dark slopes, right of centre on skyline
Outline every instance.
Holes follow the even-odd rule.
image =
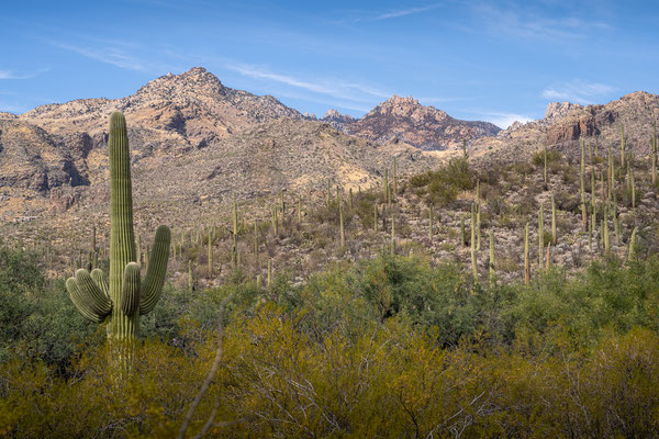
[[[413,98],[394,95],[364,117],[346,125],[346,133],[376,142],[403,140],[422,149],[449,149],[501,131],[488,122],[460,121]]]

